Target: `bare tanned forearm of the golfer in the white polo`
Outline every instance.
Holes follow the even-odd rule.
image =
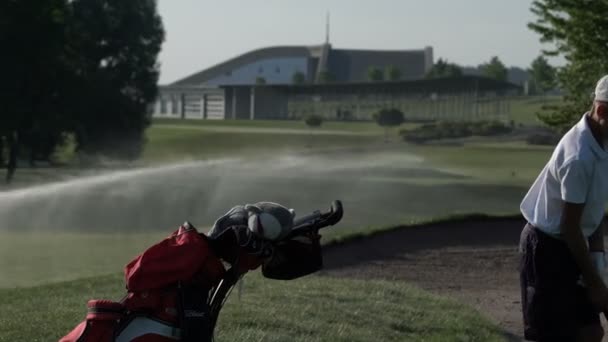
[[[585,204],[565,203],[562,213],[561,235],[581,270],[583,280],[589,286],[602,284],[602,279],[593,267],[589,257],[587,241],[580,227]]]

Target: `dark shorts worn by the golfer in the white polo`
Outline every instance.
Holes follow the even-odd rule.
[[[525,338],[574,341],[581,328],[600,324],[566,244],[526,225],[520,239],[520,284]]]

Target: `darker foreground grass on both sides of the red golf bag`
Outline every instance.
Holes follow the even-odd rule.
[[[52,341],[70,331],[91,298],[119,299],[121,275],[0,289],[0,341]],[[52,314],[47,314],[52,313]],[[504,341],[473,310],[403,283],[311,276],[245,278],[222,312],[218,341]]]

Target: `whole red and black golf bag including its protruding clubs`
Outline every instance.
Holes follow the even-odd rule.
[[[210,342],[225,299],[248,271],[263,266],[266,278],[291,280],[322,268],[318,231],[340,221],[342,204],[296,220],[272,242],[252,235],[243,212],[229,214],[209,236],[185,223],[137,256],[125,267],[127,295],[89,301],[86,319],[60,342]]]

